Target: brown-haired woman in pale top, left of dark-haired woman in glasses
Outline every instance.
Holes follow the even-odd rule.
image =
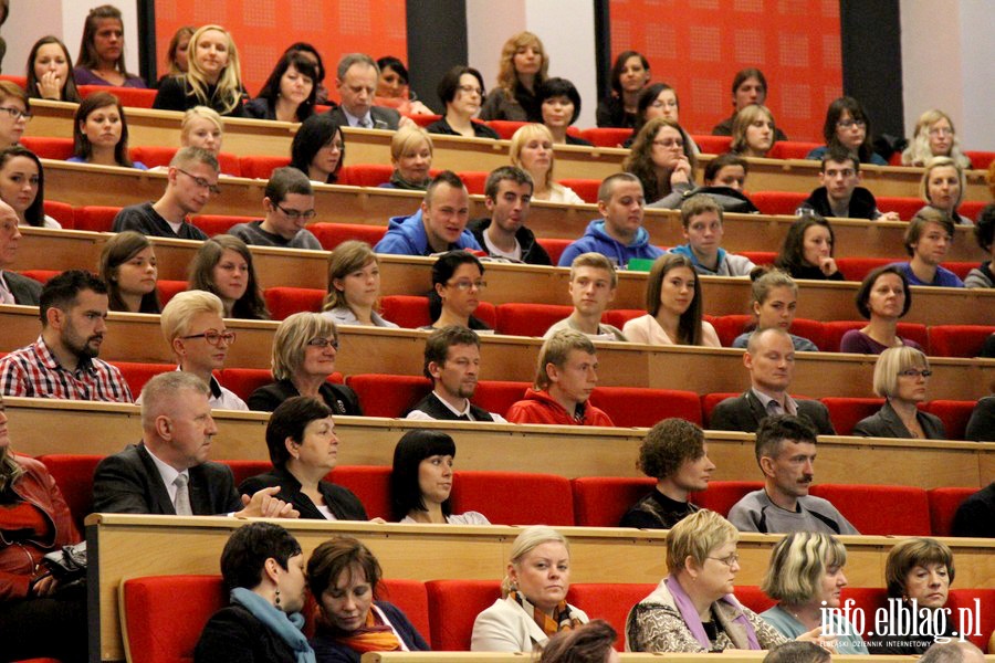
[[[328,294],[322,307],[336,325],[392,327],[377,313],[380,297],[380,262],[369,244],[343,242],[328,256]]]

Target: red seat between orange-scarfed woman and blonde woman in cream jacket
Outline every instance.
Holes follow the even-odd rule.
[[[499,580],[429,580],[429,624],[432,649],[469,652],[476,615],[501,598]]]

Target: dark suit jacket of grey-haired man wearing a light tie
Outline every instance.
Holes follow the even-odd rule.
[[[214,516],[241,511],[242,501],[234,490],[234,477],[226,465],[208,461],[190,467],[190,507],[197,516]],[[109,455],[93,475],[93,511],[111,514],[153,514],[175,516],[166,492],[144,443]]]

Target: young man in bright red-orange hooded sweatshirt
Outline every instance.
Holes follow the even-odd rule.
[[[615,425],[587,402],[598,383],[598,354],[589,338],[564,329],[546,339],[540,350],[535,385],[507,411],[513,423]]]

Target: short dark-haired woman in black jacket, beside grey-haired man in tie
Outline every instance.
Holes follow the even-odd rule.
[[[240,491],[254,495],[279,486],[274,497],[292,504],[302,518],[367,519],[352,491],[325,481],[335,469],[338,436],[332,410],[322,400],[293,396],[280,403],[266,423],[266,448],[273,470],[247,478]]]

